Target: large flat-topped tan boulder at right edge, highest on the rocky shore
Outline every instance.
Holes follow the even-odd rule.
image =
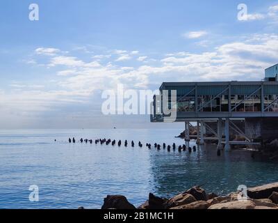
[[[247,194],[248,197],[252,199],[266,199],[270,197],[273,192],[278,192],[278,183],[270,183],[259,187],[249,188]]]

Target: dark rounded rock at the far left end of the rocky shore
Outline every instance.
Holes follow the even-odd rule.
[[[104,199],[104,205],[101,209],[136,209],[129,201],[127,201],[126,197],[122,195],[108,195]]]

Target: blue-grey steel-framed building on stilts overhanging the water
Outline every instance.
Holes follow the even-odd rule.
[[[259,146],[265,140],[278,139],[277,76],[278,64],[265,70],[261,82],[163,83],[161,95],[154,95],[151,121],[167,121],[169,116],[163,113],[166,101],[168,108],[177,112],[175,122],[186,123],[186,140],[190,140],[190,123],[194,122],[200,144],[206,139],[218,139],[218,148],[224,144],[227,150],[234,144]],[[163,91],[168,93],[166,100]],[[176,102],[171,101],[171,91],[177,93]],[[244,123],[243,128],[238,123]],[[205,137],[207,131],[214,136]],[[231,140],[231,131],[241,140]]]

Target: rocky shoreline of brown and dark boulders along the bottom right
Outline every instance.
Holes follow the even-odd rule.
[[[149,199],[138,208],[129,203],[122,195],[108,195],[101,209],[277,209],[278,183],[270,183],[247,189],[247,197],[243,199],[242,192],[233,192],[227,196],[208,194],[201,187],[193,187],[170,199],[149,194]]]

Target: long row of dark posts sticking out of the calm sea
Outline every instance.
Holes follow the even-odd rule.
[[[79,140],[80,142],[81,142],[81,144],[84,142],[85,144],[92,144],[93,143],[93,141],[92,141],[92,139],[80,139]],[[69,138],[69,143],[76,143],[76,140],[73,138],[73,139],[70,139]],[[116,146],[116,144],[117,144],[117,146],[122,146],[122,141],[121,140],[119,140],[119,141],[116,141],[115,139],[112,141],[111,139],[96,139],[95,140],[95,144],[97,145],[97,144],[101,144],[101,145],[104,145],[104,144],[106,144],[106,146],[108,146],[109,144],[111,144],[112,146]],[[127,140],[126,141],[124,141],[124,146],[125,147],[127,147],[129,144],[128,144],[128,142],[127,142]],[[134,141],[131,141],[131,147],[134,147],[135,146],[135,143],[134,143]],[[142,143],[139,141],[138,142],[138,146],[140,147],[140,148],[142,148],[143,147],[143,145],[142,145]],[[146,144],[146,147],[147,148],[149,148],[149,149],[151,149],[152,148],[152,144]],[[196,146],[193,146],[193,148],[191,148],[191,147],[186,147],[186,145],[184,145],[183,144],[183,146],[177,146],[176,144],[173,144],[172,146],[170,146],[170,145],[166,145],[165,143],[163,143],[162,144],[162,146],[160,145],[160,144],[154,144],[154,148],[156,148],[158,151],[160,151],[161,150],[161,148],[163,148],[163,149],[166,149],[167,148],[167,151],[171,151],[171,149],[173,150],[173,151],[175,151],[176,150],[176,148],[178,149],[178,151],[179,152],[181,152],[181,151],[187,151],[188,150],[188,153],[192,153],[192,151],[193,152],[196,152],[197,151],[197,148],[196,148]]]

